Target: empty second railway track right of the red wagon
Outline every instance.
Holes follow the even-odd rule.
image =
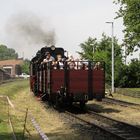
[[[118,100],[118,99],[112,99],[112,98],[105,98],[103,99],[104,103],[107,104],[116,104],[116,105],[120,105],[123,107],[130,107],[133,109],[139,109],[140,110],[140,104],[135,104],[135,103],[131,103],[131,102],[126,102],[126,101],[122,101],[122,100]]]

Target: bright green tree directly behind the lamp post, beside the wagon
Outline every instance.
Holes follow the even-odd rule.
[[[78,52],[81,58],[94,61],[105,61],[106,63],[106,82],[111,84],[111,38],[102,34],[100,41],[96,38],[89,37],[87,41],[80,44],[82,52]],[[117,39],[114,38],[115,48],[115,85],[118,86],[119,74],[121,73],[122,63],[122,50],[118,44]]]

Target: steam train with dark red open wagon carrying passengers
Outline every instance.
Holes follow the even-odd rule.
[[[51,61],[42,64],[46,52],[55,59],[61,55],[65,59],[63,69],[54,69]],[[56,105],[78,102],[83,107],[94,98],[101,101],[105,97],[104,62],[75,61],[75,68],[71,69],[66,59],[63,48],[52,46],[39,50],[30,63],[31,91],[42,100]]]

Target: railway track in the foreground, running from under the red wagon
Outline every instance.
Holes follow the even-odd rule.
[[[105,132],[117,140],[140,140],[140,128],[124,123],[93,111],[75,114],[65,111],[68,115]]]

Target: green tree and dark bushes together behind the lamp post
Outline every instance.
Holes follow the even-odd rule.
[[[106,83],[111,84],[111,38],[102,34],[100,41],[89,37],[80,44],[82,51],[78,52],[81,58],[93,61],[105,62]],[[129,65],[123,63],[122,49],[114,38],[114,61],[115,61],[115,87],[140,87],[140,61],[132,60]]]

